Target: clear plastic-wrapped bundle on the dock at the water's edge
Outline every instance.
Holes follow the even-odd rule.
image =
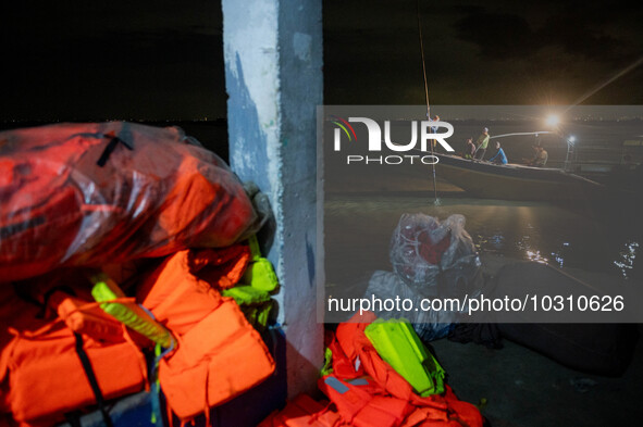
[[[399,298],[421,307],[428,298],[462,301],[465,294],[478,294],[482,264],[465,224],[465,216],[459,214],[443,222],[421,213],[403,214],[391,238],[394,272],[374,272],[364,298]],[[408,318],[422,340],[432,341],[447,336],[467,307],[395,312],[375,306],[373,311],[383,318]]]

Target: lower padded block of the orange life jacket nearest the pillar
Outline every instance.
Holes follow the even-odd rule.
[[[178,338],[159,363],[168,409],[183,422],[224,403],[268,378],[274,361],[231,298]]]

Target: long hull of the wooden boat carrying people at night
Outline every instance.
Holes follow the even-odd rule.
[[[456,155],[435,155],[440,159],[435,165],[438,176],[479,198],[573,201],[605,193],[603,185],[558,168],[498,165]]]

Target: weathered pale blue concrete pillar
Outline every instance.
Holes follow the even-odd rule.
[[[323,362],[316,317],[316,106],[322,104],[321,0],[223,0],[230,162],[272,203],[269,259],[282,285],[288,395],[314,388]],[[320,218],[321,219],[321,218]]]

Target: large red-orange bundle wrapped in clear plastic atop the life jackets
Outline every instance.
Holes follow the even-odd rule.
[[[110,122],[0,133],[0,281],[226,247],[255,219],[227,165],[177,128]]]

